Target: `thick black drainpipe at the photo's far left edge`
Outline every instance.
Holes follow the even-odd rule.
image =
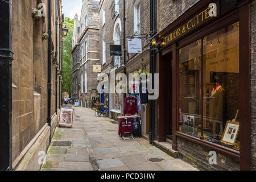
[[[13,170],[12,3],[12,0],[0,1],[0,171]]]

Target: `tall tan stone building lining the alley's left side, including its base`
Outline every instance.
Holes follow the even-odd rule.
[[[9,6],[7,1],[0,4],[1,11]],[[11,22],[10,30],[7,24],[1,28],[3,31],[6,28],[10,37],[5,36],[8,40],[1,38],[1,41],[12,42],[12,78],[10,76],[9,81],[13,96],[9,98],[9,103],[13,113],[8,125],[11,127],[10,147],[1,135],[1,152],[9,151],[9,157],[4,157],[5,160],[10,158],[9,169],[38,170],[41,166],[39,152],[46,152],[49,146],[61,106],[61,0],[13,1],[12,8],[5,10],[10,13],[6,11],[5,15],[12,15],[6,17]],[[4,20],[1,14],[0,21]],[[1,72],[2,68],[1,64]],[[1,97],[5,96],[7,98],[8,92],[3,95],[1,92]],[[5,132],[9,129],[5,127]],[[2,130],[0,133],[3,134]]]

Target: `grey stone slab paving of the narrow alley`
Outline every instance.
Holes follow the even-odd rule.
[[[116,122],[95,117],[94,114],[93,110],[76,107],[72,129],[57,127],[42,166],[43,171],[196,170],[151,146],[145,139],[121,139]],[[56,141],[69,141],[71,145],[60,146],[63,143]],[[152,158],[162,161],[151,162]]]

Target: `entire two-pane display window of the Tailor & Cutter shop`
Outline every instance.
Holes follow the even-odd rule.
[[[180,49],[182,133],[240,150],[238,127],[226,128],[239,111],[239,61],[238,22]],[[200,112],[201,100],[203,113]],[[239,117],[236,122],[239,123]]]

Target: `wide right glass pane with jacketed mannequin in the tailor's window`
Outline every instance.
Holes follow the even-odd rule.
[[[239,150],[239,141],[221,142],[235,118],[239,98],[239,28],[232,24],[204,38],[204,139]],[[239,121],[239,118],[237,118]],[[235,130],[235,129],[234,129]],[[238,135],[230,134],[230,139]]]

